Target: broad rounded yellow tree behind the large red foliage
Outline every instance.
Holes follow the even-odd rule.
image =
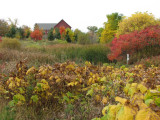
[[[156,19],[153,14],[147,12],[137,12],[132,14],[131,17],[123,19],[119,24],[116,36],[122,34],[128,34],[135,30],[140,31],[144,28],[152,25],[160,24],[159,20]]]

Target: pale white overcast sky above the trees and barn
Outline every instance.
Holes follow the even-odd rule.
[[[64,19],[72,30],[87,32],[88,26],[104,27],[106,15],[118,12],[152,13],[160,18],[160,0],[1,0],[0,19],[18,19],[18,25],[34,28],[35,23],[58,23]]]

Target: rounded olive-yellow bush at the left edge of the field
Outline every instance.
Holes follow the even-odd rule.
[[[16,38],[3,38],[0,47],[9,49],[20,49],[21,43]]]

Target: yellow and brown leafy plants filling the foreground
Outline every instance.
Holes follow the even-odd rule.
[[[158,120],[159,71],[160,68],[154,66],[114,68],[89,62],[85,66],[65,62],[28,68],[20,62],[9,77],[1,75],[0,93],[2,100],[10,101],[8,107],[15,111],[13,118],[19,113],[24,119],[46,119],[47,116],[47,119],[139,120],[149,117]],[[119,104],[111,105],[116,101]],[[34,114],[24,115],[19,111],[26,105]],[[54,116],[46,115],[44,109],[52,109]]]

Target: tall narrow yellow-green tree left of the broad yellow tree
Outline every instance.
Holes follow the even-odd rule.
[[[100,37],[101,43],[110,42],[118,29],[118,23],[122,20],[123,15],[119,13],[112,13],[107,15],[108,21],[104,23],[104,30]]]

